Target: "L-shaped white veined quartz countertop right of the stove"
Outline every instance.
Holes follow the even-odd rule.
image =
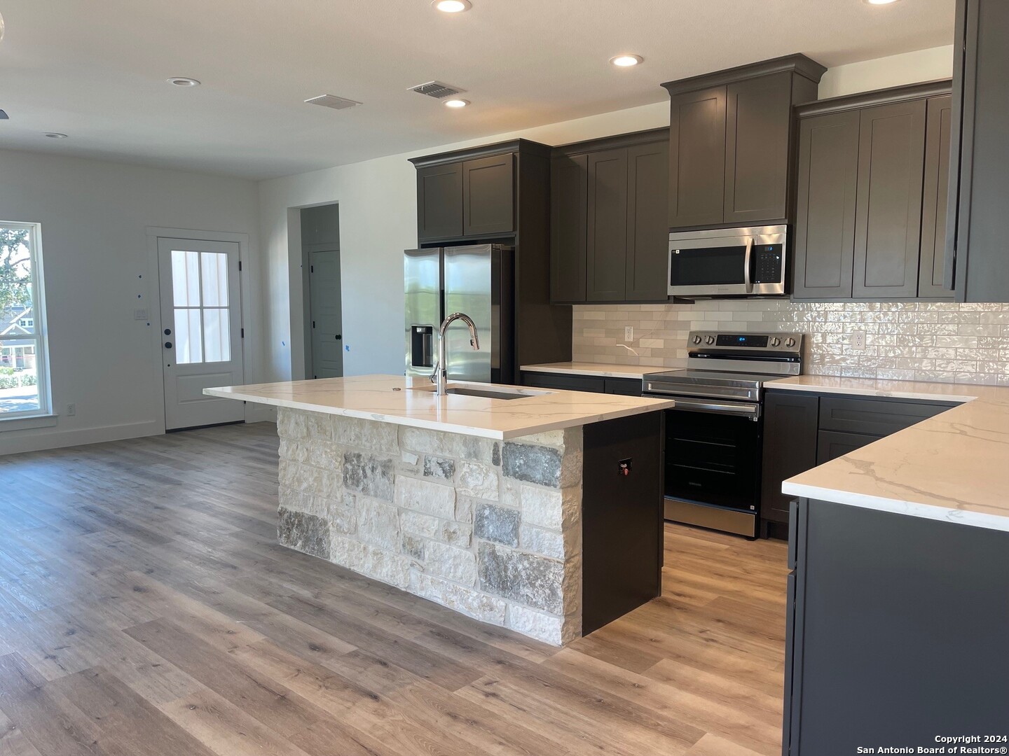
[[[1009,387],[813,375],[765,385],[964,402],[790,478],[782,491],[1009,531]]]

